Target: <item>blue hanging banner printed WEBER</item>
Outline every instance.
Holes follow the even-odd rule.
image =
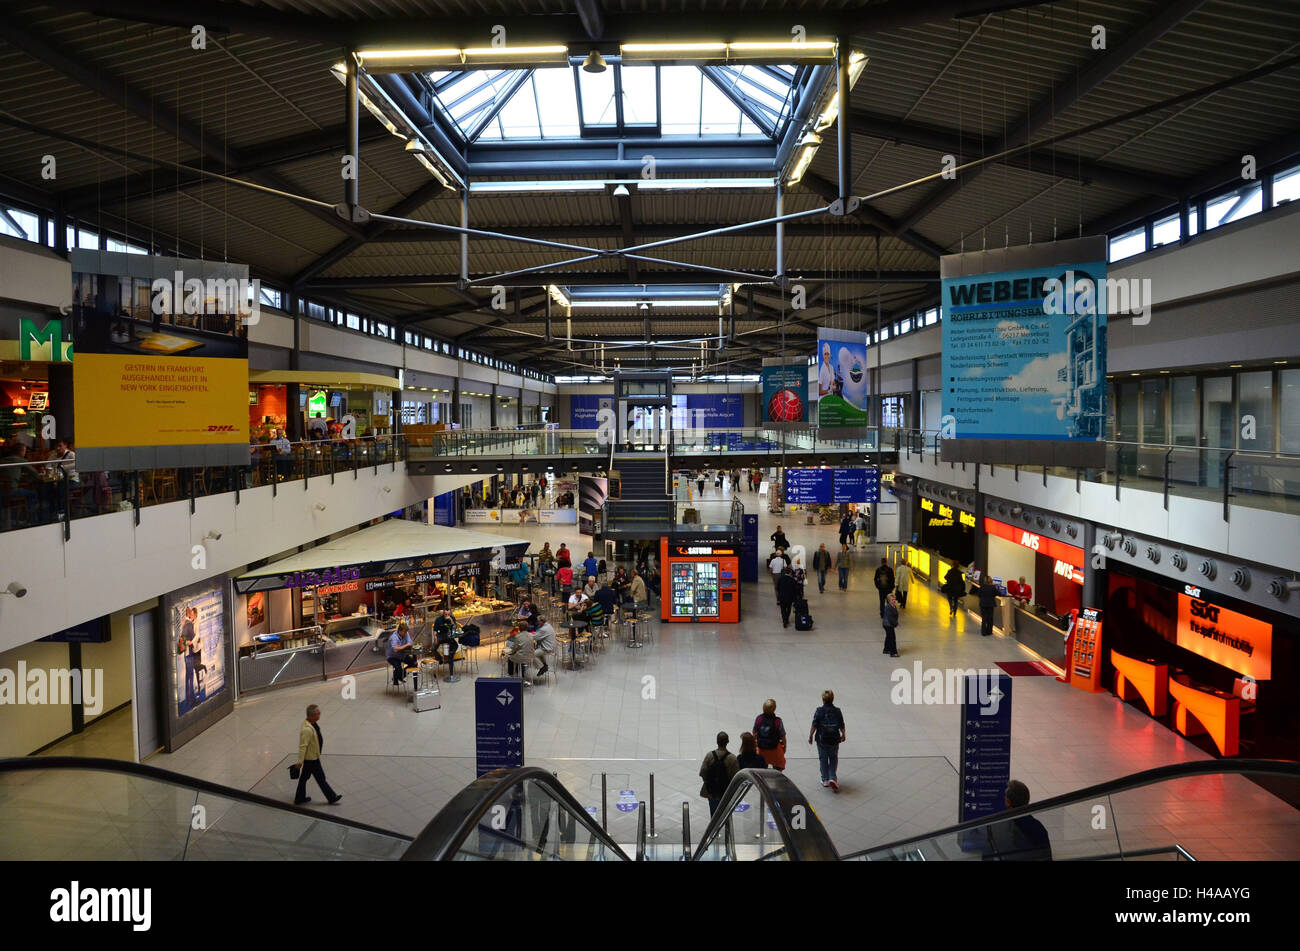
[[[1105,246],[1054,244],[942,259],[961,259],[941,264],[945,438],[1102,438]],[[985,256],[993,266],[968,273]]]

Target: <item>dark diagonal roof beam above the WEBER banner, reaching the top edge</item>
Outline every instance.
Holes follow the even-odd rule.
[[[1104,56],[1093,60],[1086,69],[1062,78],[1052,92],[1040,99],[1027,113],[1011,122],[1009,126],[1011,131],[1008,133],[1002,148],[1014,148],[1015,146],[1027,143],[1053,117],[1069,112],[1080,99],[1110,79],[1141,51],[1204,6],[1206,0],[1171,0],[1166,3],[1156,16],[1127,34],[1119,45],[1113,47]],[[952,182],[940,182],[924,197],[915,201],[911,208],[904,212],[900,217],[898,227],[907,230],[920,223],[935,209],[953,197],[961,188],[976,181],[985,169],[992,168],[994,164],[980,165],[959,173]]]

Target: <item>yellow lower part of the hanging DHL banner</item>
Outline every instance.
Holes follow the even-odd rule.
[[[77,443],[218,446],[248,442],[248,361],[78,353]]]

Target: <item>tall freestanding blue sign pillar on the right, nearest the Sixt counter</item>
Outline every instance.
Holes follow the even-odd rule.
[[[958,821],[966,822],[1006,808],[1006,783],[1011,781],[1011,678],[992,670],[968,673],[962,690]],[[972,837],[971,847],[980,844],[982,837]]]

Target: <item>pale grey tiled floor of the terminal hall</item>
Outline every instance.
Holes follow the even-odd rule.
[[[711,486],[705,498],[715,498]],[[762,511],[757,494],[740,498],[748,511],[760,512],[766,546],[777,520]],[[802,516],[781,520],[793,543],[810,552],[820,542],[835,547],[837,526],[802,522]],[[536,547],[550,540],[556,548],[567,540],[578,559],[590,547],[576,526],[498,530],[534,538]],[[763,579],[744,587],[740,625],[659,625],[644,650],[612,644],[593,669],[560,672],[554,686],[525,694],[528,761],[554,769],[597,811],[604,772],[607,821],[624,842],[633,838],[636,816],[618,809],[620,791],[646,799],[653,772],[659,841],[680,842],[681,802],[690,804],[696,835],[706,821],[698,768],[715,733],[727,730],[734,750],[763,700],[775,698],[789,729],[786,772],[841,852],[954,822],[957,709],[894,704],[892,674],[918,661],[926,668],[989,668],[1031,655],[1014,640],[980,638],[970,616],[949,620],[944,599],[914,585],[898,629],[902,656],[884,656],[871,589],[876,560],[874,552],[855,556],[848,592],[836,589],[833,574],[823,595],[810,585],[816,621],[810,633],[781,629],[771,585]],[[494,670],[484,665],[482,673]],[[404,698],[385,692],[385,677],[384,670],[360,676],[355,699],[346,699],[342,683],[332,681],[240,702],[178,752],[150,763],[287,800],[292,783],[285,768],[295,756],[303,709],[316,703],[322,711],[324,765],[344,794],[329,812],[415,834],[473,778],[473,685],[468,677],[443,683],[442,708],[415,713]],[[827,687],[836,691],[848,721],[838,795],[820,787],[807,744],[810,716]],[[1036,799],[1201,759],[1206,754],[1200,748],[1106,694],[1071,690],[1053,677],[1014,681],[1011,772]],[[321,800],[318,790],[312,795]],[[1126,848],[1179,842],[1197,857],[1300,857],[1300,812],[1245,780],[1186,781],[1102,805],[1112,821],[1109,839],[1089,839],[1088,847],[1114,843],[1118,829]],[[1052,818],[1053,841],[1074,841],[1075,828],[1088,825],[1092,815],[1080,807]]]

